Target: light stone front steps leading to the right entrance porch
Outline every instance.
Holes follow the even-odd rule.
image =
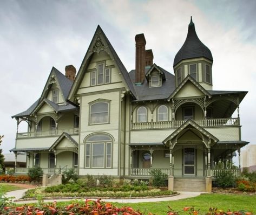
[[[174,177],[174,191],[206,192],[205,178],[176,178]]]

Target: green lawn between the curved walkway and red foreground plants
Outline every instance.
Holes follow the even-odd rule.
[[[58,202],[57,205],[68,205],[70,202]],[[111,203],[117,207],[130,206],[133,209],[140,211],[152,212],[155,215],[165,215],[168,212],[168,206],[176,211],[180,211],[183,207],[194,206],[195,210],[200,209],[200,212],[205,214],[209,207],[217,207],[227,211],[246,210],[256,213],[256,196],[249,195],[222,195],[222,194],[204,194],[198,197],[180,199],[168,202],[154,203]],[[180,214],[188,214],[181,212]]]

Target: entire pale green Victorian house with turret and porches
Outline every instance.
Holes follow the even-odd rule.
[[[72,65],[65,75],[52,67],[41,97],[12,116],[28,123],[11,149],[27,155],[27,168],[16,174],[40,166],[49,175],[74,168],[80,177],[148,179],[160,169],[171,190],[211,191],[235,151],[240,161],[248,142],[239,105],[247,92],[213,90],[212,53],[192,19],[174,74],[153,63],[143,34],[135,44],[135,70],[128,72],[98,26],[77,75]]]

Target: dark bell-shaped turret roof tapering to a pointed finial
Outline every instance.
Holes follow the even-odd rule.
[[[181,60],[190,59],[190,58],[200,58],[205,57],[209,60],[213,61],[212,53],[204,45],[195,32],[195,24],[192,21],[188,25],[188,34],[185,40],[185,43],[180,48],[179,52],[176,54],[174,58],[173,66],[178,64]]]

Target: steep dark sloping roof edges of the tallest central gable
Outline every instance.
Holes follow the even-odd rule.
[[[100,52],[102,50],[95,50],[94,45],[97,41],[97,39],[100,38],[104,48],[102,50],[105,50],[109,56],[111,57],[111,59],[113,59],[113,63],[114,65],[119,68],[120,72],[121,72],[121,76],[122,76],[122,80],[124,82],[124,84],[126,84],[127,89],[130,91],[130,93],[136,98],[136,91],[134,89],[134,85],[132,80],[130,80],[129,74],[126,70],[126,67],[124,67],[122,61],[120,60],[119,56],[117,56],[117,53],[115,52],[113,46],[110,44],[106,34],[103,32],[103,30],[101,29],[100,25],[97,26],[97,29],[94,33],[93,39],[91,40],[91,43],[88,47],[88,50],[86,52],[86,56],[84,56],[84,59],[82,61],[81,67],[76,75],[76,79],[74,81],[74,85],[71,87],[70,93],[68,95],[68,100],[71,102],[74,102],[74,95],[77,92],[77,89],[84,77],[84,74],[86,72],[86,68],[88,67],[89,61],[91,59],[91,57],[93,56],[93,54],[95,52]]]

